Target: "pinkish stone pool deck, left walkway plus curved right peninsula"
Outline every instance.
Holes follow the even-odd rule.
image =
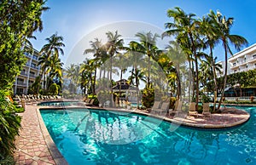
[[[163,117],[146,111],[133,110],[132,112],[195,128],[229,128],[247,122],[250,117],[246,111],[231,108],[224,110],[221,114],[212,114],[211,117],[202,117],[201,115],[199,117]],[[38,106],[36,104],[26,105],[26,111],[21,116],[22,128],[20,129],[20,136],[15,141],[14,157],[16,164],[67,164],[50,138],[42,117],[38,114]]]

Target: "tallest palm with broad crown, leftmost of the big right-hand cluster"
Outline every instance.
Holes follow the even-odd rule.
[[[195,19],[195,14],[186,14],[183,9],[176,7],[169,9],[167,16],[173,18],[173,22],[165,24],[168,29],[162,34],[162,37],[176,36],[177,43],[180,44],[183,51],[188,54],[188,60],[195,58],[195,108],[198,109],[199,101],[199,79],[198,79],[198,54],[200,48],[200,35],[198,33],[198,21]],[[191,68],[191,65],[190,65]],[[193,68],[191,71],[193,73]],[[193,75],[193,74],[192,74]]]

